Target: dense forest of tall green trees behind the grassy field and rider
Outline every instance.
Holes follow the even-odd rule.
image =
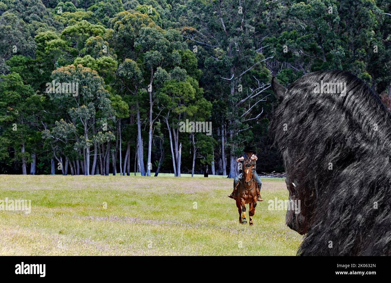
[[[343,69],[390,109],[390,9],[389,0],[1,0],[0,173],[233,178],[245,144],[258,171],[283,171],[268,135],[272,76],[288,86]]]

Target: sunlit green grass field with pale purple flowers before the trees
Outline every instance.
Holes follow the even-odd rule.
[[[0,210],[0,255],[295,255],[302,236],[285,211],[268,210],[269,199],[287,199],[283,179],[262,179],[254,226],[239,224],[232,182],[0,175],[0,199],[32,207]]]

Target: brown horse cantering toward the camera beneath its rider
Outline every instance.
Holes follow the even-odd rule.
[[[253,216],[255,214],[256,206],[256,188],[258,184],[254,180],[253,167],[244,167],[242,180],[238,183],[239,189],[238,194],[235,198],[236,206],[239,211],[239,223],[247,224],[246,219],[246,203],[250,204],[249,216],[250,216],[250,226],[254,225]],[[243,214],[242,214],[243,212]]]

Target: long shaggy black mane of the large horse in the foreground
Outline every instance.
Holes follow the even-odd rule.
[[[314,93],[321,80],[346,83],[346,95]],[[298,255],[391,255],[391,114],[380,98],[346,71],[304,75],[279,98],[270,130],[301,201]]]

